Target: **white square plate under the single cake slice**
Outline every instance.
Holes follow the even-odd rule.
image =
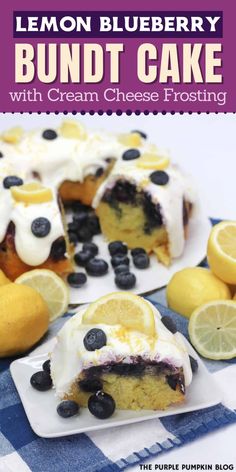
[[[116,410],[113,416],[107,420],[99,420],[92,416],[87,408],[81,408],[78,416],[63,419],[56,411],[59,401],[56,399],[54,391],[38,392],[30,385],[31,375],[41,370],[42,363],[48,358],[47,353],[52,349],[54,342],[55,340],[45,343],[40,347],[40,354],[18,359],[12,362],[10,367],[30,425],[38,436],[55,438],[137,423],[148,419],[200,410],[216,405],[222,399],[221,392],[211,374],[191,345],[185,340],[188,352],[198,360],[199,368],[193,377],[192,384],[187,389],[184,404],[172,406],[166,411]]]

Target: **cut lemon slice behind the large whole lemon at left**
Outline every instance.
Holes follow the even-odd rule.
[[[69,304],[69,289],[65,282],[51,270],[30,270],[20,275],[15,282],[28,285],[42,295],[48,305],[50,321],[54,321],[66,312]]]

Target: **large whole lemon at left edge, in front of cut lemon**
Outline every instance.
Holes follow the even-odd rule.
[[[30,349],[48,324],[48,307],[36,290],[14,283],[0,287],[0,357]]]

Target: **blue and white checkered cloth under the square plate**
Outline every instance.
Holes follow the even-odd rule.
[[[160,312],[170,314],[163,291],[154,298],[150,300]],[[68,316],[52,325],[49,337]],[[174,312],[171,316],[188,337],[187,320]],[[29,425],[9,372],[11,361],[0,360],[0,472],[119,472],[236,422],[236,360],[206,361],[223,389],[222,404],[112,430],[43,439]]]

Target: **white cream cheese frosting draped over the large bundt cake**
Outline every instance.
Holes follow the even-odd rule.
[[[104,131],[87,131],[82,128],[81,137],[65,137],[62,127],[56,130],[55,139],[45,139],[43,129],[22,132],[14,143],[0,140],[0,243],[4,240],[10,221],[15,224],[15,245],[19,257],[25,263],[37,266],[46,261],[52,242],[64,235],[57,191],[65,180],[82,182],[88,175],[96,174],[99,168],[106,169],[108,160],[116,160],[110,176],[98,189],[93,206],[96,207],[106,188],[115,185],[118,178],[125,178],[139,185],[151,195],[153,203],[159,203],[164,224],[169,235],[170,254],[178,257],[184,248],[183,197],[195,201],[189,179],[174,166],[167,173],[170,181],[165,187],[151,183],[151,170],[138,169],[135,161],[124,161],[123,153],[130,148],[121,136]],[[140,154],[156,152],[155,146],[138,137]],[[125,144],[124,144],[125,143]],[[9,189],[2,182],[7,176],[18,176],[24,183],[39,178],[52,188],[54,199],[48,204],[28,205],[16,203]],[[37,215],[37,216],[35,216]],[[36,238],[31,232],[32,220],[46,217],[51,223],[50,234]],[[55,239],[54,239],[55,238]]]

